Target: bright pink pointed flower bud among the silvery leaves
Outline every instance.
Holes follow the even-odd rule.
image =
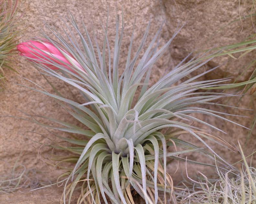
[[[42,63],[46,65],[49,69],[59,69],[58,67],[52,65],[52,63],[57,63],[72,71],[73,73],[77,73],[74,69],[71,68],[71,61],[75,66],[79,67],[81,70],[84,70],[83,67],[74,59],[72,54],[70,54],[66,50],[63,50],[60,47],[58,48],[70,56],[68,57],[69,60],[57,49],[56,46],[46,40],[42,42],[30,40],[17,45],[17,50],[19,51],[19,54],[21,56],[28,57],[30,58],[29,60],[33,62]],[[67,64],[71,66],[68,66]]]

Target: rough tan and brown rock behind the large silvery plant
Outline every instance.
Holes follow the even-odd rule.
[[[61,23],[60,16],[65,18],[68,11],[72,13],[77,20],[79,26],[82,26],[80,19],[83,19],[87,25],[90,34],[95,30],[99,44],[102,44],[104,39],[104,32],[101,28],[100,22],[105,24],[107,5],[109,5],[109,41],[113,48],[115,39],[115,8],[121,15],[121,5],[123,5],[124,19],[125,19],[125,36],[123,39],[123,52],[120,54],[120,68],[125,66],[126,54],[129,46],[129,39],[132,31],[132,25],[136,18],[135,40],[133,50],[136,52],[139,46],[140,39],[143,32],[151,18],[151,27],[149,39],[153,37],[158,30],[161,22],[164,21],[163,32],[161,34],[161,44],[167,42],[173,35],[178,23],[185,24],[184,28],[173,40],[169,50],[156,63],[152,72],[151,81],[155,82],[166,71],[171,70],[178,64],[187,54],[194,50],[204,50],[216,46],[224,46],[231,43],[237,43],[245,40],[251,34],[254,34],[253,25],[251,23],[250,15],[251,1],[227,1],[227,0],[127,0],[127,1],[100,1],[100,0],[23,0],[20,1],[19,13],[23,13],[23,18],[26,19],[24,23],[20,24],[20,28],[27,28],[20,41],[26,41],[32,37],[39,36],[40,30],[50,34],[49,30],[44,26],[43,21],[54,25],[57,30],[64,34],[62,30],[63,23]],[[239,12],[241,15],[241,22],[239,20]],[[60,16],[59,16],[60,15]],[[252,17],[255,20],[255,17]],[[230,22],[234,21],[230,24]],[[243,26],[243,30],[241,32]],[[205,68],[215,67],[223,64],[220,68],[212,73],[204,76],[205,79],[216,79],[221,77],[238,77],[245,69],[245,65],[253,60],[255,52],[251,52],[239,60],[234,60],[230,57],[219,57],[213,59],[207,64]],[[236,56],[238,57],[238,56]],[[23,84],[35,87],[24,78],[32,80],[41,87],[52,91],[50,85],[40,75],[40,73],[28,62],[21,57],[16,57],[16,65],[19,67],[20,73],[8,72],[6,89],[0,93],[0,172],[6,172],[11,169],[21,154],[18,162],[25,165],[26,168],[36,168],[42,170],[46,177],[54,179],[51,171],[47,165],[38,159],[38,149],[40,144],[48,140],[48,132],[36,124],[29,121],[20,120],[13,117],[3,116],[18,116],[26,117],[22,112],[28,114],[43,115],[56,119],[61,119],[67,122],[77,123],[72,117],[68,115],[53,99],[45,97],[44,95],[30,91],[28,88],[19,86]],[[246,73],[239,77],[239,81],[248,79],[252,70],[251,67]],[[196,71],[197,73],[202,70]],[[22,78],[24,77],[24,78]],[[62,82],[54,81],[58,90],[61,90],[68,98],[72,99],[77,96],[75,90],[70,90]],[[79,98],[78,98],[79,100]],[[239,101],[239,98],[224,101],[229,105],[239,105],[242,108],[254,109],[253,101],[255,101],[255,94],[253,96],[246,95]],[[79,101],[82,102],[82,101]],[[228,116],[228,119],[238,122],[246,127],[250,127],[253,118],[253,111],[244,111],[239,109],[227,109],[223,107],[213,107],[213,110],[223,111],[232,114],[245,115],[248,118],[239,118]],[[246,136],[248,130],[233,125],[228,122],[216,120],[211,117],[201,116],[202,120],[217,126],[227,134],[216,132],[221,138],[228,141],[230,144],[237,146],[238,140],[244,147],[245,153],[248,155],[252,153],[255,148],[255,131],[252,132],[250,140],[245,148]],[[182,136],[183,138],[187,136]],[[187,138],[188,141],[195,144],[195,138]],[[211,144],[211,143],[210,143]],[[214,145],[214,150],[228,162],[234,163],[240,159],[238,152],[233,152],[222,146]],[[200,155],[189,155],[191,159],[197,159],[202,162],[207,162],[205,158]],[[253,161],[254,164],[255,161]],[[176,165],[168,167],[172,175],[176,170]],[[180,171],[184,173],[184,164],[179,164]],[[191,166],[189,174],[195,174],[198,170],[208,172],[204,167]],[[55,172],[56,173],[56,172]],[[173,179],[178,182],[181,180],[182,173],[173,175]],[[46,188],[32,192],[16,192],[14,194],[0,195],[0,203],[7,204],[57,204],[61,198],[61,188]],[[76,203],[75,196],[73,203]]]

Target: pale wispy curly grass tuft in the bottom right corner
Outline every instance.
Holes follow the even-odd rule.
[[[248,165],[241,147],[240,153],[242,163],[239,169],[223,172],[217,167],[217,179],[209,179],[200,172],[195,180],[188,177],[188,180],[177,186],[180,189],[176,191],[177,203],[255,204],[256,169]]]

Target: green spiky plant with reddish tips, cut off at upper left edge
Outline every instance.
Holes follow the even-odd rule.
[[[18,1],[0,0],[0,78],[4,77],[5,69],[14,70],[10,56],[14,53],[19,33],[14,30],[17,5]]]

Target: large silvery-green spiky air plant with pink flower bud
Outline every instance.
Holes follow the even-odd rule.
[[[201,76],[217,67],[187,77],[214,56],[228,52],[205,53],[190,60],[188,56],[156,83],[149,85],[153,65],[167,50],[181,27],[177,28],[166,44],[159,47],[162,26],[150,43],[146,44],[149,23],[137,51],[133,53],[134,26],[127,61],[122,69],[119,66],[119,55],[124,35],[123,17],[121,26],[119,17],[116,18],[114,52],[111,52],[107,37],[108,20],[103,28],[105,35],[101,51],[96,36],[93,43],[86,26],[82,24],[80,29],[72,15],[70,16],[67,21],[71,26],[66,24],[66,36],[61,36],[54,27],[45,23],[55,40],[42,33],[42,38],[35,38],[17,46],[20,55],[37,65],[46,79],[60,79],[77,89],[83,96],[84,102],[79,103],[65,98],[55,87],[55,93],[31,88],[56,99],[61,107],[81,123],[81,127],[84,126],[81,128],[65,120],[53,118],[48,119],[56,125],[47,125],[40,122],[36,116],[30,120],[72,136],[63,137],[52,132],[52,135],[69,143],[67,146],[62,143],[54,144],[53,147],[72,154],[55,158],[58,163],[53,164],[66,170],[58,179],[58,184],[64,183],[62,202],[70,203],[72,193],[80,188],[81,195],[77,202],[80,204],[134,204],[134,194],[145,199],[146,203],[166,203],[167,199],[175,200],[173,181],[166,170],[167,163],[180,160],[211,166],[184,159],[182,154],[198,152],[216,160],[224,167],[229,166],[205,140],[209,139],[224,146],[228,144],[221,143],[221,139],[215,136],[212,137],[210,131],[195,126],[201,123],[213,130],[222,131],[197,118],[197,114],[229,121],[221,116],[227,113],[217,112],[209,107],[228,106],[216,102],[223,97],[234,95],[204,90],[219,86],[220,83],[223,85],[227,80],[199,80]],[[65,23],[65,20],[63,21]],[[78,39],[75,36],[78,36]],[[52,83],[51,85],[54,86]],[[206,106],[208,108],[205,108]],[[43,116],[42,118],[45,119]],[[178,139],[178,136],[184,133],[195,137],[204,147],[199,148]],[[76,136],[78,134],[82,139]],[[176,147],[181,150],[175,150]],[[73,168],[66,167],[66,162],[73,164]]]

